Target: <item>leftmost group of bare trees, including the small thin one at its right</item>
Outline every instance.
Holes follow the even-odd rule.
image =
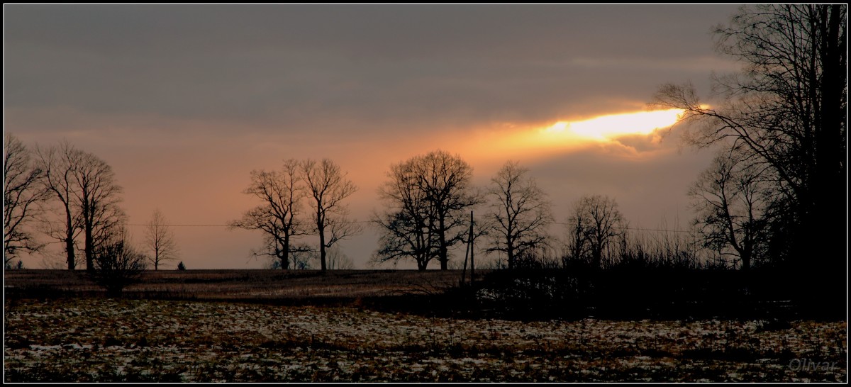
[[[3,163],[4,264],[21,253],[38,253],[48,245],[39,236],[63,246],[65,265],[79,265],[82,244],[89,272],[105,265],[103,257],[115,245],[129,249],[127,216],[120,207],[121,185],[100,157],[67,141],[30,149],[13,134],[5,134]],[[82,240],[82,241],[81,241]],[[157,269],[177,257],[174,233],[157,210],[146,229],[146,244]]]

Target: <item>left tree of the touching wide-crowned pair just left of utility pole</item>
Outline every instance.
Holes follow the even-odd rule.
[[[437,257],[437,236],[432,233],[436,215],[426,192],[419,189],[413,162],[391,165],[390,178],[379,188],[386,211],[375,213],[374,224],[380,229],[379,249],[374,263],[410,258],[417,269],[426,270],[429,261]]]

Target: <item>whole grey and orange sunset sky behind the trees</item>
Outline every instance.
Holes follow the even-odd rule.
[[[250,171],[289,158],[339,164],[359,221],[381,208],[392,163],[440,149],[477,186],[520,162],[559,222],[601,194],[633,227],[684,229],[711,151],[684,145],[670,118],[608,116],[647,111],[664,83],[709,94],[713,71],[737,68],[711,34],[737,8],[4,4],[3,130],[105,160],[134,240],[159,208],[189,269],[267,264],[250,256],[260,231],[223,225],[259,204],[243,194]],[[378,247],[363,225],[340,242],[360,269]]]

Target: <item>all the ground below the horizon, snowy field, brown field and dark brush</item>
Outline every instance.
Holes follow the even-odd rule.
[[[847,380],[846,321],[732,270],[4,275],[5,382]]]

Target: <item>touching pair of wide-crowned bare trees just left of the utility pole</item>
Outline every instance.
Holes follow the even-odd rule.
[[[391,166],[380,189],[388,211],[374,216],[383,231],[375,261],[410,257],[420,270],[431,259],[448,269],[448,249],[464,239],[465,209],[480,199],[471,188],[470,164],[431,151]]]

